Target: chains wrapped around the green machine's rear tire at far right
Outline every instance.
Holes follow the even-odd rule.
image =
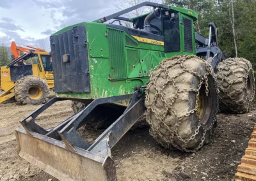
[[[243,61],[243,62],[247,65],[248,69],[246,69],[246,68],[244,68],[243,66],[241,66],[241,64],[239,64],[239,60]],[[236,62],[237,68],[245,69],[246,75],[237,76],[236,73],[234,73],[233,69],[230,69],[230,71],[228,71],[228,73],[223,73],[223,72],[222,72],[223,69],[227,70],[227,67],[228,67],[227,61]],[[242,110],[242,111],[234,110],[234,109],[232,108],[232,106],[230,106],[230,105],[232,105],[233,103],[236,103],[236,105],[241,106],[241,105],[243,105],[243,104],[245,103],[245,104],[246,104],[246,112],[250,111],[250,108],[252,108],[252,106],[253,106],[253,100],[254,100],[254,95],[255,95],[255,86],[254,86],[255,78],[254,78],[254,76],[253,76],[253,96],[252,96],[252,99],[249,99],[249,95],[248,95],[248,92],[247,92],[247,87],[240,87],[239,89],[236,89],[236,88],[233,86],[233,83],[234,83],[235,80],[237,80],[237,78],[243,78],[243,80],[245,79],[245,85],[247,85],[247,77],[248,77],[250,71],[251,71],[251,70],[253,71],[253,69],[252,69],[252,64],[250,64],[249,61],[247,61],[246,59],[243,59],[243,58],[239,58],[239,59],[237,59],[237,58],[235,58],[235,59],[234,59],[234,58],[229,58],[229,59],[226,59],[224,62],[225,62],[226,65],[225,65],[223,68],[220,68],[219,66],[216,67],[216,69],[217,69],[217,71],[218,71],[218,75],[221,74],[221,76],[222,76],[222,78],[221,78],[221,83],[223,82],[223,80],[228,80],[227,76],[230,75],[230,74],[236,76],[236,79],[234,79],[232,82],[226,81],[226,82],[228,83],[228,88],[227,88],[227,90],[229,89],[229,87],[233,87],[233,89],[236,91],[236,94],[235,94],[234,96],[228,95],[229,92],[226,91],[226,89],[223,88],[223,86],[221,85],[221,83],[219,83],[219,82],[217,81],[218,89],[219,89],[220,91],[224,92],[224,93],[225,93],[225,96],[227,96],[229,99],[232,100],[231,103],[225,103],[225,101],[223,101],[222,98],[220,98],[220,96],[219,96],[220,103],[222,103],[223,105],[227,106],[228,109],[231,110],[231,111],[234,112],[234,113],[244,113],[244,110]],[[238,102],[236,101],[236,97],[237,97],[237,95],[238,95],[238,92],[243,91],[243,89],[245,89],[246,99],[244,99],[243,103],[238,103]],[[246,101],[248,101],[248,103],[246,103]]]

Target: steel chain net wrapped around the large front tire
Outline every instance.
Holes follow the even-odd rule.
[[[146,117],[147,117],[147,122],[148,124],[150,124],[150,134],[156,138],[156,133],[165,141],[165,143],[168,144],[168,147],[169,145],[172,145],[172,147],[174,148],[177,148],[179,150],[182,150],[184,152],[196,152],[197,150],[199,150],[200,148],[202,148],[202,146],[204,145],[204,141],[205,141],[205,134],[206,134],[206,131],[209,131],[212,129],[212,127],[216,124],[216,113],[219,111],[219,105],[218,105],[218,100],[217,100],[217,108],[216,108],[216,113],[214,115],[214,120],[212,122],[212,124],[207,128],[205,129],[204,127],[204,124],[200,124],[200,122],[198,123],[198,126],[195,130],[195,133],[190,137],[188,138],[187,140],[184,140],[182,139],[179,134],[178,134],[178,129],[179,129],[179,126],[181,124],[181,120],[184,118],[184,117],[188,117],[189,115],[193,114],[193,113],[196,113],[196,116],[198,117],[199,119],[199,115],[198,115],[198,99],[199,99],[199,90],[201,88],[201,85],[202,83],[205,82],[205,93],[207,94],[208,96],[208,93],[209,93],[209,85],[208,85],[208,76],[211,76],[212,80],[214,81],[214,86],[215,86],[215,89],[216,89],[216,94],[218,94],[218,87],[216,85],[216,75],[214,74],[214,71],[212,69],[212,66],[211,64],[209,64],[207,61],[204,61],[203,59],[201,59],[202,61],[204,61],[205,63],[205,68],[207,69],[207,73],[205,73],[203,76],[200,76],[197,72],[191,70],[191,69],[186,69],[186,67],[183,65],[183,63],[188,60],[188,59],[191,59],[191,58],[194,58],[196,57],[195,55],[180,55],[180,56],[176,56],[176,57],[172,57],[170,59],[164,59],[164,61],[161,61],[159,63],[158,66],[156,66],[156,68],[154,69],[151,69],[150,70],[150,82],[148,83],[147,85],[147,88],[146,88],[146,92],[149,91],[150,87],[151,86],[154,86],[154,89],[156,89],[156,94],[154,96],[154,100],[152,101],[152,103],[149,102],[149,97],[148,97],[148,94],[146,94],[146,99],[145,101],[147,102],[147,105],[148,105],[148,109],[151,110],[154,115],[156,116],[157,120],[158,120],[158,126],[156,129],[153,128],[152,126],[152,120],[150,119],[150,115],[149,115],[149,112],[147,111],[146,112]],[[200,59],[199,57],[196,57],[197,59]],[[173,61],[174,59],[178,59],[178,61]],[[173,61],[170,65],[166,66],[165,68],[163,67],[164,66],[164,62],[166,61]],[[177,65],[177,64],[180,64],[181,68],[182,68],[182,71],[180,71],[180,73],[178,73],[177,75],[175,75],[172,80],[170,80],[170,75],[169,75],[169,72],[168,72],[168,68],[172,68],[173,66]],[[166,82],[163,84],[163,87],[159,90],[157,89],[156,87],[156,79],[159,77],[159,75],[161,75],[161,73],[163,71],[159,71],[159,73],[156,75],[156,76],[153,76],[152,73],[153,71],[156,71],[157,69],[163,69],[163,71],[166,73],[166,75],[168,76]],[[177,88],[177,86],[175,85],[175,78],[177,78],[179,75],[181,75],[182,73],[185,73],[185,72],[188,72],[188,73],[191,73],[193,75],[195,75],[196,77],[198,77],[200,79],[200,83],[198,85],[198,88],[197,89],[187,89],[187,90],[179,90]],[[171,82],[173,87],[175,87],[176,89],[176,92],[175,92],[175,96],[173,97],[172,101],[170,103],[168,103],[165,99],[164,99],[164,95],[163,95],[163,89],[164,87],[166,87],[166,85],[168,85],[168,83]],[[181,117],[178,117],[177,114],[175,113],[175,111],[172,109],[172,105],[173,103],[175,102],[175,99],[177,99],[177,96],[178,96],[178,92],[184,92],[184,91],[192,91],[192,92],[196,92],[196,106],[195,106],[195,109],[187,112],[186,114],[182,115]],[[161,100],[165,103],[165,107],[166,107],[166,110],[164,112],[164,116],[162,118],[160,118],[158,116],[158,113],[154,110],[153,106],[155,103],[156,103],[156,99],[157,97],[160,96]],[[218,98],[218,96],[217,96]],[[166,113],[168,112],[168,110],[172,110],[172,113],[175,115],[175,117],[177,117],[178,119],[176,120],[175,122],[175,129],[174,131],[170,130],[169,126],[167,126],[162,120],[165,119],[166,117]],[[159,125],[160,123],[164,124],[164,128],[168,129],[168,131],[170,131],[170,133],[172,134],[170,140],[166,140],[166,138],[161,134],[161,132],[159,131]],[[186,148],[186,144],[189,143],[189,141],[193,140],[195,138],[195,136],[199,133],[199,130],[200,130],[200,127],[203,128],[204,132],[203,132],[203,136],[201,138],[201,141],[200,141],[200,144],[198,145],[198,147],[194,148],[194,149],[188,149]],[[175,143],[173,143],[173,138],[174,136],[177,136],[177,138],[182,141],[184,143],[183,147],[180,147],[179,145],[176,145]],[[157,138],[156,138],[157,140]],[[160,141],[161,143],[161,141]],[[161,143],[161,145],[163,145],[164,147],[166,147],[166,145],[164,145],[163,143]]]

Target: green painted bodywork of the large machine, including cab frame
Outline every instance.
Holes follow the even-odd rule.
[[[91,83],[90,93],[58,93],[57,96],[97,99],[131,94],[136,85],[146,85],[150,69],[155,68],[163,59],[175,55],[195,54],[193,21],[196,20],[197,14],[194,11],[172,6],[170,6],[170,10],[179,11],[179,52],[164,53],[163,46],[141,43],[122,29],[107,27],[106,24],[97,21],[71,25],[54,33],[54,35],[63,33],[77,25],[85,25]],[[145,17],[145,15],[143,16]],[[192,20],[193,52],[184,52],[184,27],[182,24],[184,17]]]

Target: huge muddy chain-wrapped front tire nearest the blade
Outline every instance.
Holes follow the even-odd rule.
[[[162,61],[151,71],[146,89],[150,134],[164,147],[186,152],[209,143],[218,112],[215,81],[211,66],[199,57]]]

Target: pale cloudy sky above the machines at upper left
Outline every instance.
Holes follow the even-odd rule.
[[[33,45],[63,27],[114,12],[111,0],[0,0],[0,44]]]

